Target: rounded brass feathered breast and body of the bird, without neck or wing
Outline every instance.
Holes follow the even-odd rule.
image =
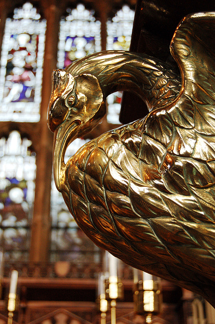
[[[78,150],[66,165],[67,206],[96,245],[127,264],[171,273],[176,284],[184,273],[186,288],[197,280],[215,288],[214,211],[200,197],[206,189],[214,205],[214,172],[168,152],[144,129],[135,122]]]

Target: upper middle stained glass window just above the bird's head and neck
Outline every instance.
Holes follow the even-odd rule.
[[[76,59],[101,50],[100,21],[84,5],[68,9],[69,15],[61,19],[58,68],[64,68]]]

